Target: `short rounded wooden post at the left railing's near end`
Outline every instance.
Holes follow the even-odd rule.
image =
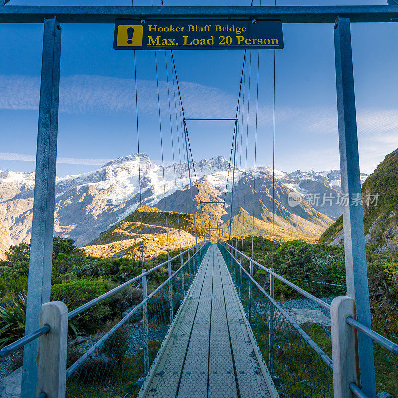
[[[36,396],[45,392],[47,398],[65,398],[68,308],[63,302],[41,306],[40,326],[44,325],[51,329],[39,337]]]

